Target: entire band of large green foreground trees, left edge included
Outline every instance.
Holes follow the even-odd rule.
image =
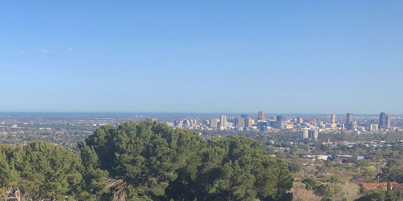
[[[288,165],[247,137],[206,141],[152,121],[102,126],[78,144],[0,146],[0,200],[291,200]]]

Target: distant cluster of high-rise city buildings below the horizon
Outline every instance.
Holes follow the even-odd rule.
[[[306,138],[318,139],[318,133],[322,131],[351,131],[359,134],[363,131],[401,131],[399,127],[391,126],[391,115],[382,112],[379,114],[379,121],[368,119],[365,121],[355,121],[353,113],[347,113],[345,122],[337,121],[336,115],[331,114],[330,118],[321,119],[303,119],[302,117],[287,118],[282,115],[266,118],[263,111],[259,111],[257,118],[248,117],[247,114],[241,114],[239,117],[227,117],[220,115],[220,118],[211,118],[197,122],[196,119],[175,120],[168,123],[172,127],[181,127],[188,129],[208,129],[208,130],[235,130],[235,131],[277,131],[278,129],[300,130],[299,140]],[[154,119],[153,119],[154,120]],[[326,122],[325,122],[326,121]]]

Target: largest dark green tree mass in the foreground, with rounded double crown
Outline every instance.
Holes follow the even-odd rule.
[[[103,126],[86,140],[96,154],[87,166],[107,170],[111,187],[104,196],[127,200],[289,200],[293,182],[287,164],[267,156],[247,137],[206,142],[199,133],[152,121]],[[83,151],[82,151],[83,152]],[[98,156],[98,163],[95,162]],[[84,161],[84,160],[83,160]],[[124,193],[117,193],[119,189]]]

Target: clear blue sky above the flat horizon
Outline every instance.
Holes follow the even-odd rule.
[[[0,111],[403,114],[403,1],[2,1]]]

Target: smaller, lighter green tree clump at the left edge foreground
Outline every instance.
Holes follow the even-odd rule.
[[[0,146],[0,150],[0,188],[4,191],[33,200],[91,197],[83,189],[84,169],[73,152],[43,142]]]

